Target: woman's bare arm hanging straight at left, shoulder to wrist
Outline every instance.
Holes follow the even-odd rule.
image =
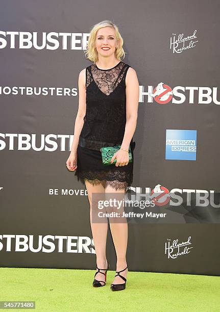
[[[79,106],[78,113],[75,120],[74,127],[74,140],[72,141],[70,154],[77,153],[77,147],[79,143],[79,137],[84,124],[84,116],[86,114],[86,69],[81,70],[79,74],[78,80],[78,88],[79,88]]]

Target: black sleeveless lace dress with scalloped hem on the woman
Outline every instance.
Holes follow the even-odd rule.
[[[84,184],[102,184],[113,189],[129,190],[133,181],[133,162],[116,167],[104,166],[100,148],[122,143],[126,125],[126,73],[130,65],[120,61],[110,69],[95,63],[86,67],[86,114],[77,148],[75,176]]]

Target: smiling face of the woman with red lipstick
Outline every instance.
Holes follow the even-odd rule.
[[[95,46],[97,53],[104,57],[109,57],[114,54],[115,48],[118,47],[118,40],[115,36],[115,30],[113,27],[103,27],[99,29],[95,37]],[[104,47],[108,47],[104,49]]]

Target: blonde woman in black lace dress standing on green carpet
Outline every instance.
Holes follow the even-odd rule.
[[[76,170],[78,181],[85,183],[88,192],[97,266],[93,286],[101,287],[106,284],[109,269],[106,259],[108,222],[107,218],[105,222],[92,222],[97,213],[92,194],[113,193],[123,198],[131,186],[134,161],[129,162],[128,151],[131,147],[134,160],[139,83],[136,71],[121,61],[125,57],[123,38],[111,21],[97,23],[91,29],[86,56],[93,63],[79,74],[79,109],[66,166],[70,171]],[[116,163],[104,166],[100,148],[115,145],[121,145],[111,159],[112,162],[116,159]],[[109,218],[117,256],[117,274],[111,284],[113,291],[126,287],[128,224],[125,219],[118,223],[115,218]]]

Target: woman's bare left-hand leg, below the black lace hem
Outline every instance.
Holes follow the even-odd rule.
[[[96,181],[95,185],[92,185],[91,181],[85,180],[85,185],[88,193],[88,200],[90,204],[90,225],[92,230],[92,238],[94,241],[95,253],[96,253],[96,265],[100,269],[107,269],[107,259],[106,259],[106,240],[107,240],[107,231],[108,231],[108,220],[102,221],[102,223],[94,223],[92,219],[97,219],[98,207],[96,200],[94,200],[95,194],[92,198],[92,193],[103,193],[105,194],[105,180]],[[94,181],[93,181],[94,184]],[[96,197],[99,195],[96,195]],[[95,198],[96,198],[95,197]],[[95,221],[95,220],[94,220]],[[96,270],[97,271],[97,270]],[[105,273],[105,271],[101,270]],[[98,273],[95,276],[95,279],[104,281],[104,274]],[[102,283],[104,284],[104,283]]]

